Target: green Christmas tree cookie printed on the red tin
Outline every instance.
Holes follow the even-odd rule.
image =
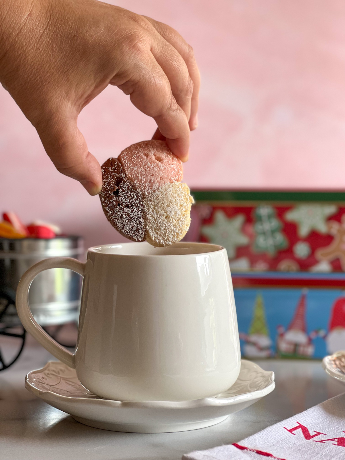
[[[279,250],[288,247],[288,240],[281,232],[282,223],[272,206],[260,205],[254,211],[255,253],[268,253],[274,257]]]

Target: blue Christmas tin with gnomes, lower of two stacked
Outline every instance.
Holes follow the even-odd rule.
[[[265,282],[270,281],[273,274],[266,275]],[[232,277],[238,285],[240,278]],[[296,286],[296,280],[308,288]],[[242,356],[321,359],[344,349],[345,291],[337,285],[345,286],[345,276],[287,276],[279,281],[285,283],[234,290]]]

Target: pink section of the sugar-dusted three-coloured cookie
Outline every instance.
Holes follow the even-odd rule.
[[[144,195],[182,179],[182,162],[166,142],[150,140],[132,144],[119,155],[124,172]]]

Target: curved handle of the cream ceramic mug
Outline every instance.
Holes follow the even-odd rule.
[[[57,359],[67,364],[70,368],[75,369],[75,355],[70,351],[66,350],[65,347],[58,344],[56,340],[52,339],[40,325],[35,321],[32,315],[28,303],[29,288],[36,275],[41,271],[48,270],[50,268],[68,268],[73,270],[79,275],[84,276],[85,266],[79,260],[71,259],[70,257],[51,257],[49,259],[41,260],[37,264],[27,270],[21,277],[16,293],[16,307],[20,321],[24,328],[33,336],[35,339],[44,346],[46,350],[52,353]]]

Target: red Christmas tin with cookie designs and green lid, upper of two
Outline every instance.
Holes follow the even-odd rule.
[[[225,247],[233,270],[345,271],[344,193],[193,193],[187,238]]]

